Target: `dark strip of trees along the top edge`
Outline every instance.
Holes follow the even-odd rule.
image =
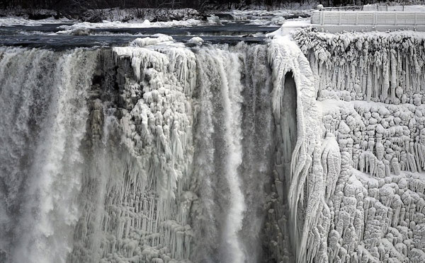
[[[316,4],[346,6],[373,4],[375,0],[0,0],[0,8],[44,8],[55,11],[94,8],[243,8],[244,6],[290,6]]]

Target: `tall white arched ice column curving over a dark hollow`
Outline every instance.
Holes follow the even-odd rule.
[[[290,173],[284,173],[285,170],[279,169],[279,164],[282,161],[279,156],[281,149],[278,148],[278,155],[276,156],[278,178],[276,179],[286,180],[288,183],[285,197],[281,198],[288,198],[290,213],[287,220],[290,228],[288,231],[290,246],[293,249],[295,260],[305,262],[307,233],[316,223],[317,213],[323,206],[319,194],[324,187],[319,156],[319,134],[315,132],[319,127],[319,122],[315,104],[314,78],[304,54],[289,37],[276,37],[271,42],[268,56],[273,69],[272,98],[276,127],[279,127],[280,116],[283,114],[281,103],[285,92],[285,74],[288,74],[288,72],[293,74],[297,88],[297,143],[292,153]],[[277,131],[277,134],[282,137],[288,136],[288,134],[281,134],[279,131]],[[307,192],[307,195],[305,195],[305,192]],[[306,206],[303,206],[303,204],[306,204]],[[284,228],[284,226],[281,228]]]

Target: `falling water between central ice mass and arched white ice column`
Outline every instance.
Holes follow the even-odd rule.
[[[196,140],[199,150],[194,163],[202,182],[199,192],[203,217],[208,218],[201,221],[200,228],[210,238],[199,245],[198,250],[206,252],[197,259],[256,262],[261,252],[259,235],[263,222],[259,210],[263,209],[266,195],[263,178],[268,169],[264,155],[271,138],[270,119],[261,119],[258,114],[263,112],[256,108],[264,107],[264,112],[267,107],[270,109],[266,48],[237,45],[195,52],[200,105]],[[266,69],[259,66],[254,76],[245,73],[254,73],[256,64]],[[256,157],[259,160],[252,165],[250,161]],[[220,245],[214,247],[216,243]]]

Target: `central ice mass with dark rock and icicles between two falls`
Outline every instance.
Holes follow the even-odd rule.
[[[115,47],[99,66],[100,80],[113,78],[92,98],[89,123],[100,131],[69,262],[189,257],[195,57],[179,45],[141,44]]]

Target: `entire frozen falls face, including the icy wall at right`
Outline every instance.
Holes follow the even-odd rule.
[[[0,49],[0,262],[424,262],[419,33]]]

